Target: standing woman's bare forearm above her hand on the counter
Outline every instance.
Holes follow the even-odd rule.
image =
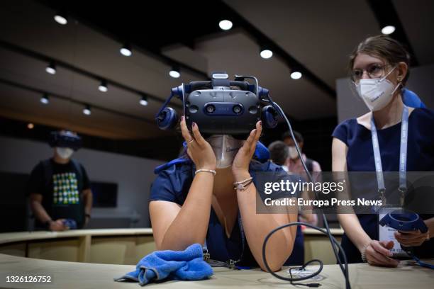
[[[338,220],[343,227],[345,234],[355,244],[359,251],[369,244],[371,238],[360,225],[359,219],[355,214],[338,214]]]

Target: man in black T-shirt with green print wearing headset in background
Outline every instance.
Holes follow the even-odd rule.
[[[67,130],[52,132],[50,147],[53,157],[36,165],[28,182],[35,229],[81,229],[89,222],[92,205],[87,173],[71,159],[81,138]]]

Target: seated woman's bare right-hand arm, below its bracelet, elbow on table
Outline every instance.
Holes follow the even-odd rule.
[[[238,190],[238,207],[250,251],[262,270],[266,271],[262,259],[262,245],[267,234],[283,223],[280,224],[275,219],[275,214],[256,213],[256,195],[257,192],[253,183],[245,191]],[[272,271],[278,271],[282,268],[286,259],[291,255],[295,234],[295,227],[287,227],[274,233],[267,242],[267,263]]]

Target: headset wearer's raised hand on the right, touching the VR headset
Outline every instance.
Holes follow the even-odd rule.
[[[261,132],[262,122],[258,121],[256,123],[255,130],[250,132],[250,135],[244,142],[243,147],[238,150],[238,153],[232,163],[232,173],[236,181],[238,181],[240,178],[245,178],[246,173],[249,173],[250,160],[255,153],[256,143],[261,136]]]

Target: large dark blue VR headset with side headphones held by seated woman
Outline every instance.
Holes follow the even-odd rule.
[[[245,79],[253,79],[250,84]],[[162,130],[177,125],[177,112],[167,106],[173,96],[181,99],[187,127],[197,123],[204,137],[209,135],[233,135],[245,138],[262,120],[265,128],[277,126],[277,111],[267,101],[268,90],[258,85],[255,77],[235,75],[228,79],[226,72],[213,72],[211,81],[191,81],[174,87],[167,101],[155,115]]]

